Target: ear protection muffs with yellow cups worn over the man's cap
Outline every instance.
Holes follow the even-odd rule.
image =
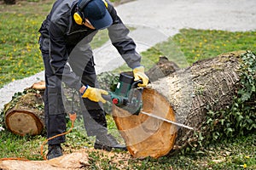
[[[77,8],[75,9],[75,13],[73,14],[73,20],[75,20],[75,22],[78,25],[84,25],[84,12],[83,12],[83,9],[91,1],[92,0],[79,0]],[[106,8],[108,8],[108,3],[105,0],[102,0],[102,1],[105,4]]]

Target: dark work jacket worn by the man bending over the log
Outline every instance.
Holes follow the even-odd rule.
[[[54,3],[39,29],[41,33],[39,43],[42,53],[49,53],[50,65],[55,76],[62,78],[70,88],[79,90],[82,86],[79,77],[81,75],[75,74],[67,61],[74,54],[79,55],[80,59],[91,58],[92,53],[88,43],[97,31],[75,23],[73,14],[77,3],[78,0],[57,0]],[[136,52],[136,44],[127,36],[129,30],[109,2],[108,12],[113,19],[113,25],[108,27],[108,36],[113,46],[132,69],[139,66],[141,56]]]

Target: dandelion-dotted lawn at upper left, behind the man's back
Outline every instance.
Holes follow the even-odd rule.
[[[1,4],[0,88],[4,84],[44,70],[38,49],[38,29],[51,4],[52,1]]]

